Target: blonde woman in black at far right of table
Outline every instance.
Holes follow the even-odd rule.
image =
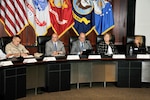
[[[141,36],[136,36],[134,38],[134,43],[127,45],[127,54],[129,54],[129,50],[132,48],[133,54],[145,54],[146,47],[143,43],[143,38]]]

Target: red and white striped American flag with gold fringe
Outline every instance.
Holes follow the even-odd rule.
[[[25,0],[0,0],[0,21],[9,36],[21,33],[28,25]]]

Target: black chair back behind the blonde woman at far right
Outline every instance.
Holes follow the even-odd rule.
[[[126,44],[133,44],[135,37],[142,37],[143,39],[143,46],[146,44],[146,37],[144,35],[134,35],[134,36],[127,36]]]

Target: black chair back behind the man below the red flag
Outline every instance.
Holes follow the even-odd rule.
[[[38,36],[37,37],[37,46],[39,53],[45,53],[45,44],[51,39],[51,36]]]

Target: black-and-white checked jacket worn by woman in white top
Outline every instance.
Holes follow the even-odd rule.
[[[112,42],[110,42],[109,46],[112,48],[112,52],[114,54],[118,53],[118,50],[116,49],[116,47],[114,46]],[[104,41],[100,42],[98,44],[97,53],[104,55],[107,53],[107,51],[108,51],[108,45]]]

